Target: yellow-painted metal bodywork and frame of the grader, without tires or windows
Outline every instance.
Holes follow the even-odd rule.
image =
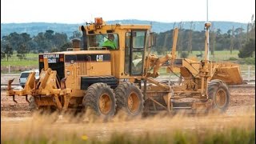
[[[88,50],[80,50],[80,47],[74,46],[74,48],[70,49],[73,51],[51,54],[110,54],[110,61],[92,62],[89,60],[88,62],[66,62],[65,60],[65,78],[58,82],[56,80],[58,79],[57,71],[51,70],[48,58],[45,57],[43,59],[44,68],[41,70],[39,81],[35,81],[34,72],[32,72],[23,90],[13,90],[11,88],[12,81],[10,80],[7,95],[13,97],[14,95],[26,96],[26,99],[27,95],[34,97],[44,95],[46,97],[42,99],[36,98],[39,106],[56,106],[58,110],[67,110],[71,103],[81,103],[81,98],[86,94],[86,90],[81,89],[82,77],[106,75],[117,78],[119,83],[123,81],[135,83],[142,90],[145,101],[150,100],[150,102],[153,102],[154,110],[156,110],[155,105],[158,105],[164,110],[170,111],[173,109],[172,100],[181,98],[198,98],[202,101],[194,102],[193,109],[202,106],[208,108],[212,106],[212,100],[209,100],[207,94],[208,83],[211,80],[219,79],[226,82],[226,84],[242,83],[238,65],[230,62],[216,63],[209,60],[209,28],[210,23],[206,22],[205,58],[198,62],[188,58],[176,58],[178,28],[174,29],[174,42],[171,53],[159,58],[154,54],[150,54],[150,48],[154,45],[155,39],[154,34],[150,32],[151,26],[106,25],[106,22],[103,22],[101,18],[95,18],[95,23],[91,23],[89,26],[80,26],[79,30],[85,32],[87,36],[93,34],[118,34],[117,50],[107,50],[104,47],[87,47]],[[125,72],[126,34],[132,33],[133,30],[145,31],[144,57],[142,58],[143,73],[140,75],[130,75]],[[170,65],[167,66],[167,71],[178,71],[183,78],[183,81],[179,85],[170,86],[154,79],[159,75],[159,68],[168,61]],[[159,102],[159,97],[162,97],[165,103]]]

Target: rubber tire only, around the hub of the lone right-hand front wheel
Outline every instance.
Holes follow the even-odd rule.
[[[226,96],[226,102],[222,107],[216,104],[216,94],[219,90],[222,90]],[[224,113],[227,110],[230,103],[230,91],[222,80],[214,79],[208,83],[208,97],[213,101],[212,110],[214,112]]]

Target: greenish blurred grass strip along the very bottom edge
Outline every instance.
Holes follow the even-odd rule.
[[[254,144],[255,143],[255,129],[245,130],[242,128],[231,128],[229,130],[221,131],[206,131],[205,134],[200,134],[200,130],[194,131],[174,131],[167,132],[166,134],[143,134],[142,136],[132,136],[130,134],[112,134],[109,140],[98,140],[97,138],[87,139],[86,136],[79,138],[77,134],[63,135],[64,139],[58,140],[55,138],[47,138],[42,136],[39,138],[24,138],[22,140],[18,138],[3,139],[1,143],[120,143],[120,144],[132,144],[132,143],[179,143],[179,144],[197,144],[197,143],[233,143],[233,144]]]

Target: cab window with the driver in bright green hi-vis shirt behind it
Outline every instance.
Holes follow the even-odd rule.
[[[114,40],[111,38],[114,36]],[[118,34],[88,34],[87,43],[89,48],[107,48],[109,50],[118,50]]]

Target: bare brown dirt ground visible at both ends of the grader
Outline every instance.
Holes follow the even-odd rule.
[[[6,91],[1,91],[1,116],[28,117],[31,116],[25,97],[6,97]],[[230,88],[230,106],[226,114],[236,114],[255,109],[255,88]]]

